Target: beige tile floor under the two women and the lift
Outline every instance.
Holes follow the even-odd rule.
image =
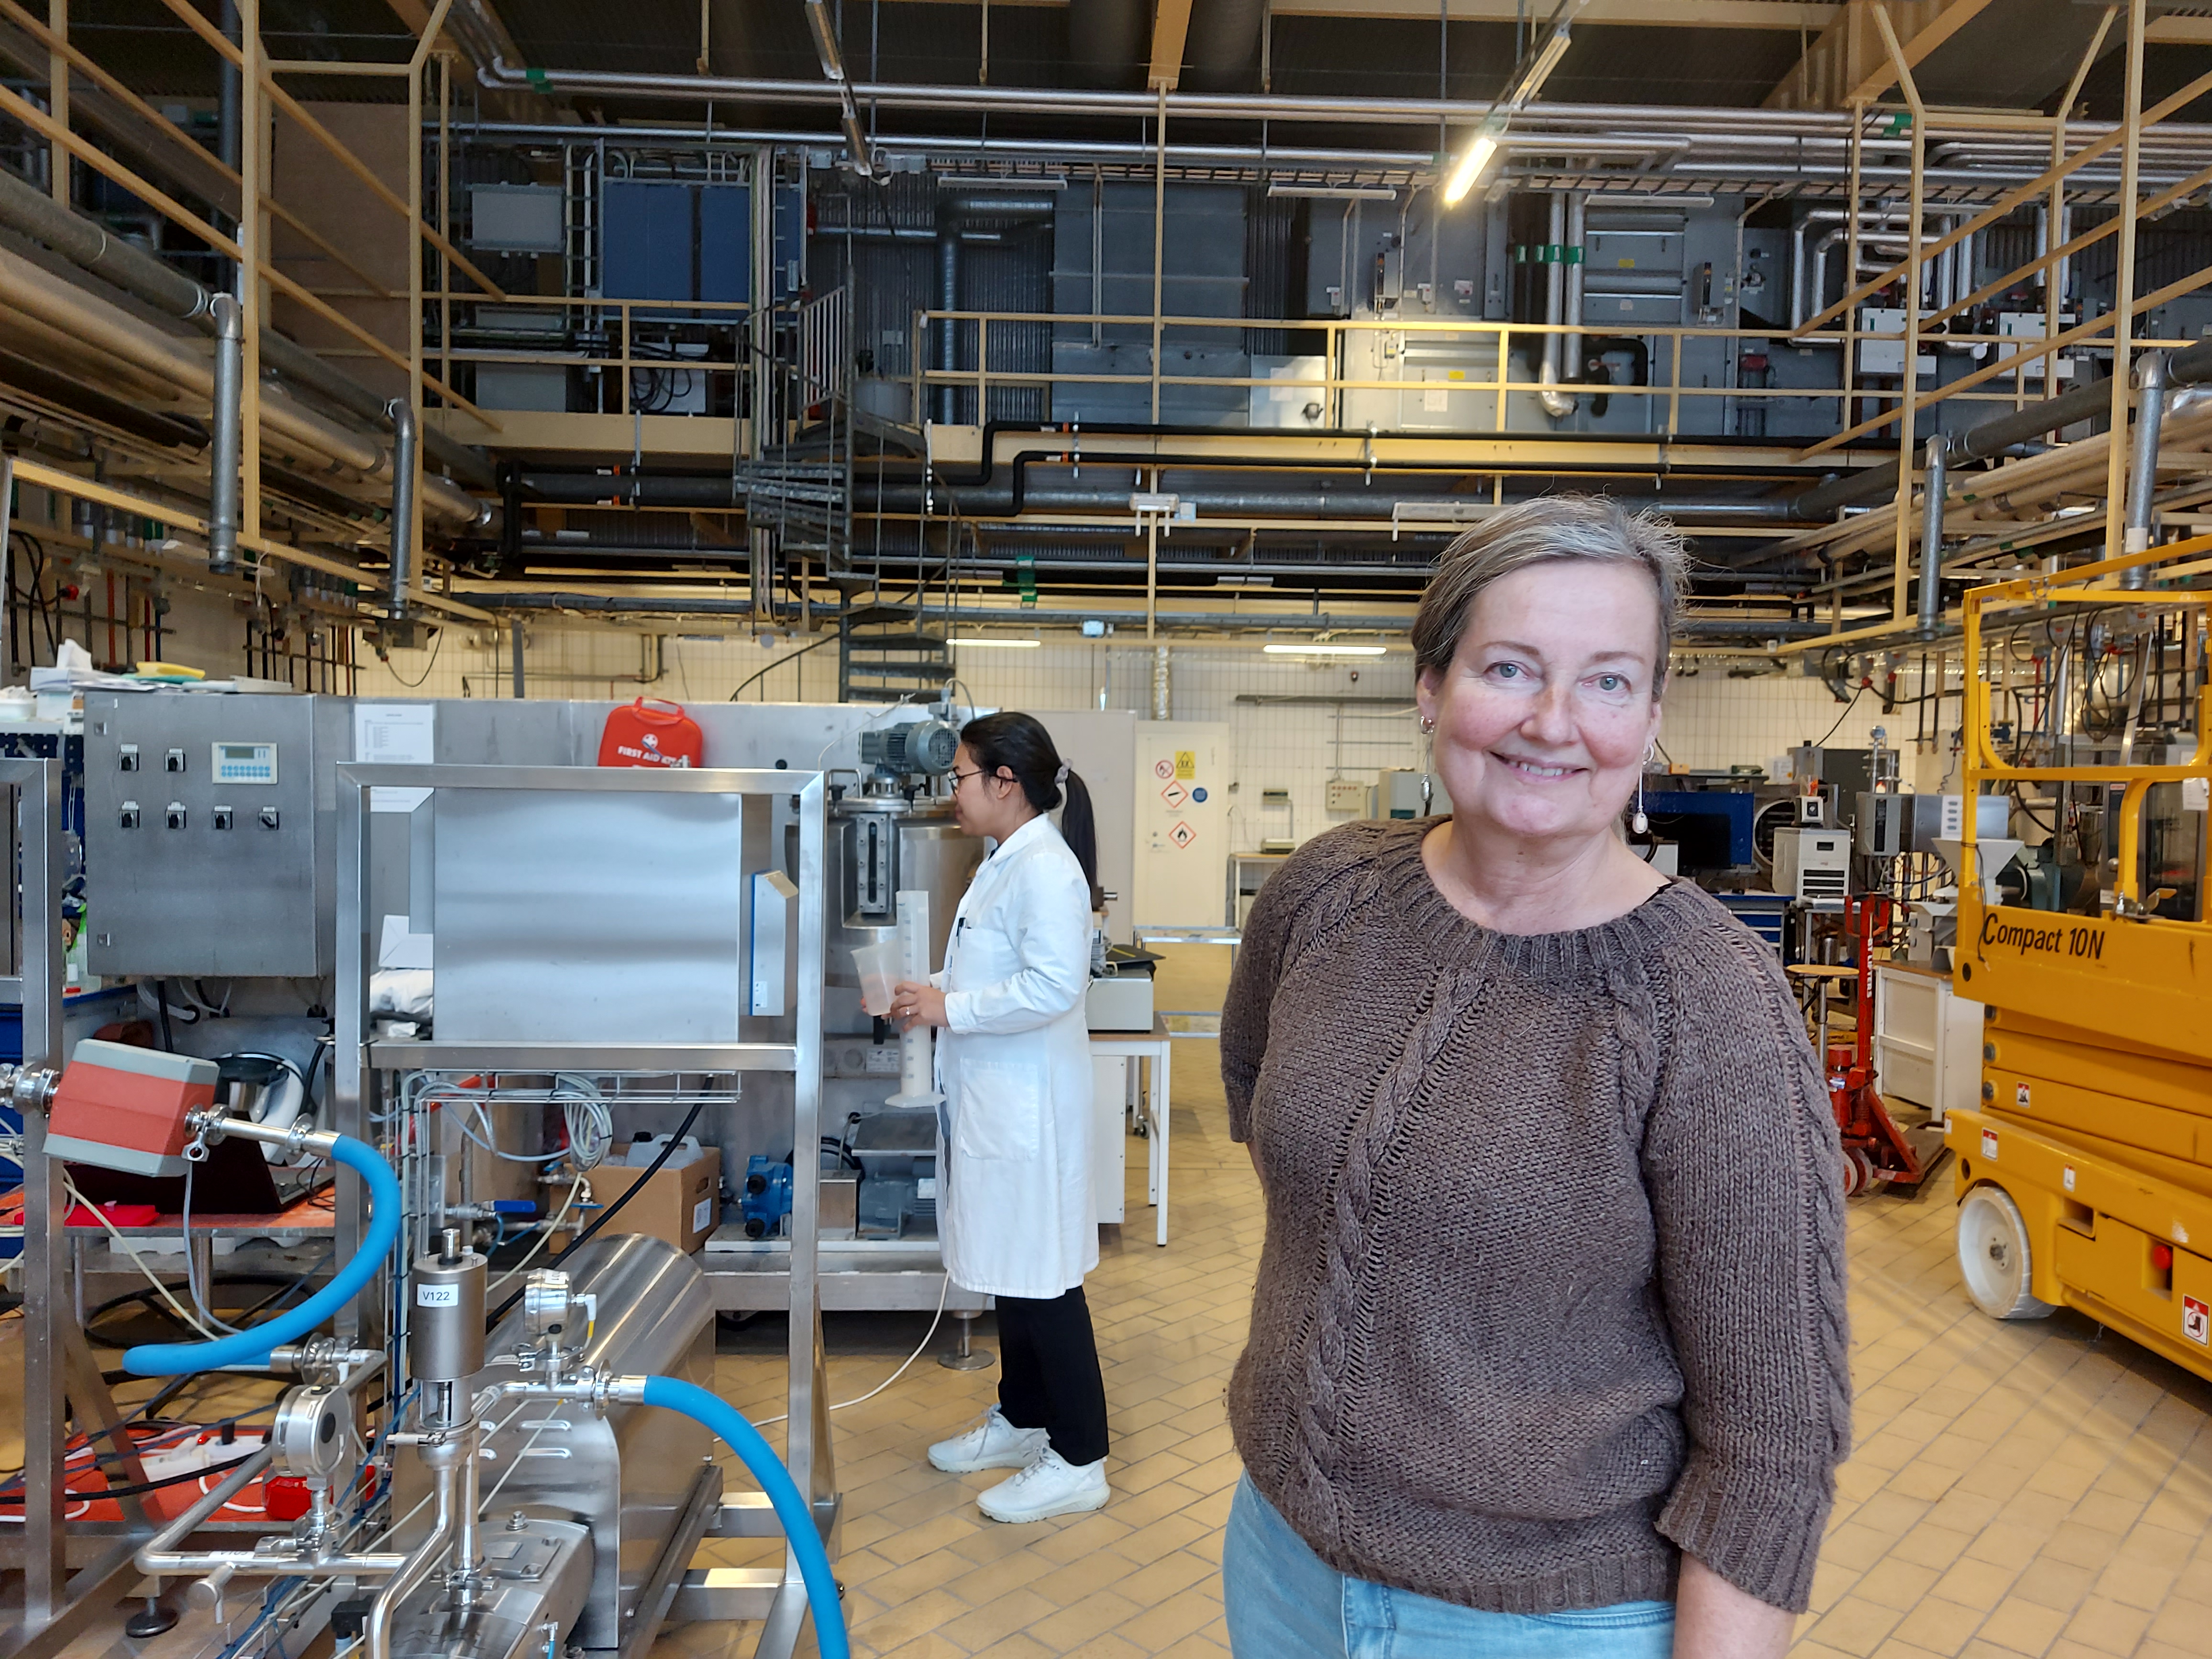
[[[1219,951],[1179,951],[1164,1006],[1219,1006],[1223,967]],[[1128,1179],[1130,1225],[1088,1285],[1117,1436],[1113,1502],[1040,1526],[982,1520],[973,1493],[993,1475],[940,1475],[922,1449],[989,1405],[998,1374],[925,1356],[836,1413],[856,1652],[1225,1652],[1219,1553],[1237,1455],[1221,1387],[1243,1345],[1261,1221],[1212,1044],[1177,1048],[1166,1250],[1150,1243],[1141,1141]],[[1958,1287],[1949,1183],[1933,1188],[1851,1208],[1858,1449],[1794,1652],[2212,1659],[2212,1385],[2073,1314],[1982,1318]],[[834,1318],[832,1398],[880,1383],[925,1325]],[[978,1345],[993,1340],[984,1321]],[[781,1411],[781,1329],[741,1329],[726,1349],[723,1391],[757,1416]],[[710,1548],[765,1559],[759,1544]],[[681,1626],[653,1659],[737,1659],[754,1635]],[[135,1652],[102,1637],[73,1659]]]

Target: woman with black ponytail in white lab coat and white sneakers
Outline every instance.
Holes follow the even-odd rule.
[[[1053,807],[1066,801],[1060,827]],[[993,845],[933,982],[902,982],[891,1018],[940,1026],[945,1272],[998,1298],[998,1405],[929,1462],[1013,1469],[975,1502],[1002,1522],[1106,1502],[1106,1383],[1084,1274],[1097,1267],[1091,1197],[1091,792],[1029,714],[960,730],[953,816]]]

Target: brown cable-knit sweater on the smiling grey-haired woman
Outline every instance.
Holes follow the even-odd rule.
[[[1221,1018],[1267,1243],[1230,1427],[1329,1566],[1498,1613],[1803,1610],[1849,1444],[1836,1124],[1781,971],[1697,887],[1469,922],[1429,823],[1261,889]]]

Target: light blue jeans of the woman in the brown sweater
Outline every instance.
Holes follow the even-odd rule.
[[[1221,1540],[1237,1659],[1668,1659],[1672,1601],[1568,1613],[1478,1613],[1345,1577],[1290,1531],[1250,1475]]]

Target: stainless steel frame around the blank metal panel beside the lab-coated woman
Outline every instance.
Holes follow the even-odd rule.
[[[4,776],[4,774],[0,774]],[[644,770],[582,765],[367,765],[343,763],[338,783],[338,993],[336,1053],[332,1057],[334,1126],[365,1137],[369,1104],[383,1075],[411,1071],[639,1071],[639,1073],[787,1073],[794,1084],[794,1146],[821,1139],[823,1077],[823,883],[827,790],[821,772],[779,770]],[[369,969],[376,960],[376,922],[369,902],[369,790],[544,790],[544,792],[661,792],[785,796],[799,812],[799,949],[794,1042],[608,1044],[608,1042],[440,1042],[436,1035],[372,1037]],[[338,1172],[338,1254],[363,1234],[361,1179]],[[785,1464],[814,1506],[823,1542],[836,1557],[841,1502],[830,1444],[830,1396],[821,1334],[821,1170],[816,1159],[792,1164],[792,1219],[787,1296],[790,1398]],[[356,1307],[380,1307],[363,1296]],[[341,1338],[358,1336],[361,1314],[341,1321]],[[383,1334],[376,1334],[378,1340]],[[774,1511],[761,1493],[734,1493],[706,1526],[708,1537],[779,1537]],[[686,1568],[668,1595],[670,1621],[761,1621],[761,1659],[785,1659],[805,1624],[805,1584],[796,1557],[781,1568]]]

